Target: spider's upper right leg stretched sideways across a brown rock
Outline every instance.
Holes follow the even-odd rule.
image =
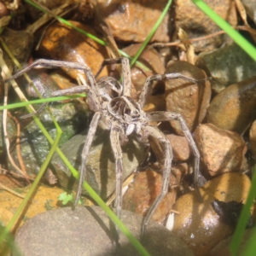
[[[162,75],[157,74],[157,75],[151,76],[148,79],[146,79],[146,82],[143,86],[143,90],[142,90],[142,92],[139,96],[138,103],[139,103],[140,107],[143,108],[143,106],[146,102],[148,93],[151,90],[151,85],[152,85],[153,81],[160,81],[160,80],[164,80],[164,79],[180,79],[180,78],[188,80],[189,82],[192,82],[192,83],[195,83],[195,84],[208,79],[208,78],[207,79],[200,79],[200,80],[191,79],[187,76],[184,76],[181,73],[166,73],[166,74],[162,74]]]

